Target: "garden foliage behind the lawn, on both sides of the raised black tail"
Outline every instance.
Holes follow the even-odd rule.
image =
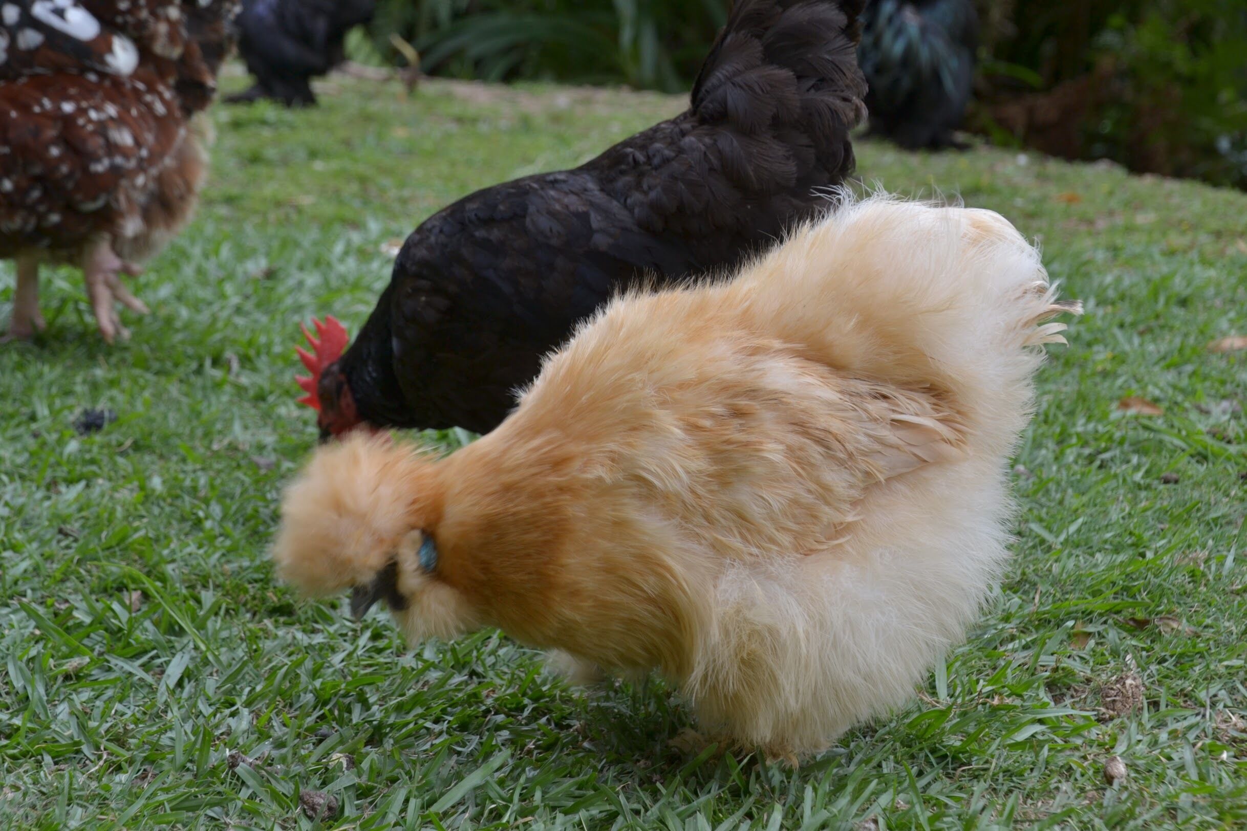
[[[1242,0],[976,0],[979,105],[998,143],[1247,188]],[[425,72],[688,87],[729,0],[382,0],[359,60]]]

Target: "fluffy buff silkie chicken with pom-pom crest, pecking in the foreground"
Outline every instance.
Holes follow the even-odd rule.
[[[727,283],[611,302],[450,456],[322,447],[278,573],[409,639],[658,670],[707,738],[796,761],[974,619],[1049,320],[1077,310],[999,214],[847,202]]]

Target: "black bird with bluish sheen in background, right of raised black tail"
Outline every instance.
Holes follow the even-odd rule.
[[[973,0],[870,0],[858,49],[870,132],[909,150],[958,147],[978,42]]]

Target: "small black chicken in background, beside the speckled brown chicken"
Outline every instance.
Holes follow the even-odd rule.
[[[347,32],[372,20],[374,11],[375,0],[246,0],[238,15],[238,51],[256,83],[226,101],[314,105],[311,80],[342,62]]]

